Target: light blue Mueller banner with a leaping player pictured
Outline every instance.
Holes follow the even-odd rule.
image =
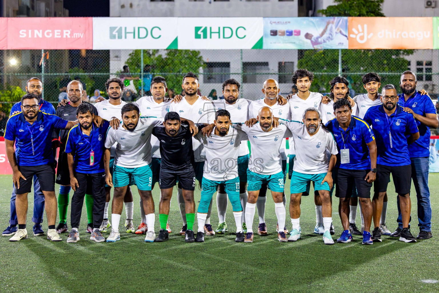
[[[347,49],[347,17],[264,18],[264,49]]]

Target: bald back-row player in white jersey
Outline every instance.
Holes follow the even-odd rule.
[[[280,92],[279,83],[276,80],[268,79],[263,84],[262,89],[265,98],[252,101],[250,106],[248,107],[248,118],[256,118],[259,115],[259,110],[262,107],[268,107],[273,111],[273,116],[277,118],[289,119],[290,118],[290,106],[288,104],[281,105],[277,102],[277,95]],[[283,103],[282,103],[283,104]],[[286,140],[281,139],[281,148],[279,152],[281,153],[281,161],[282,161],[282,171],[284,172],[284,181],[287,177],[287,156],[285,154],[286,148]],[[266,203],[266,189],[267,185],[263,184],[261,191],[259,192],[258,201],[256,206],[258,208],[258,216],[259,216],[259,227],[258,227],[258,235],[267,235],[267,227],[265,224],[265,203]],[[285,195],[283,197],[283,203],[285,205],[286,198]],[[247,223],[246,223],[247,224]],[[279,230],[279,227],[276,228]],[[284,232],[288,233],[286,227],[284,227]]]

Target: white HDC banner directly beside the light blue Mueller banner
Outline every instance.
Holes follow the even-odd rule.
[[[180,17],[179,49],[262,49],[262,17]]]

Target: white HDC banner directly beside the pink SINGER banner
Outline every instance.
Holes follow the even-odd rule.
[[[94,17],[93,49],[177,49],[177,18]]]

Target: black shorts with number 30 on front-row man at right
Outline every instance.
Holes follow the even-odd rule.
[[[377,164],[377,179],[374,184],[374,192],[387,192],[390,173],[392,173],[395,192],[399,194],[410,193],[411,165],[385,166]]]

